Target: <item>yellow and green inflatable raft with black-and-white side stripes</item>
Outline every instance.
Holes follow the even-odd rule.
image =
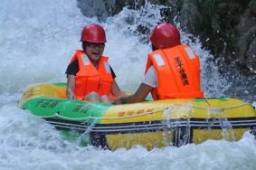
[[[254,134],[256,111],[239,99],[166,99],[111,105],[65,99],[65,83],[35,84],[22,93],[19,107],[60,129],[81,145],[115,150],[141,145],[200,144],[208,139],[236,141]]]

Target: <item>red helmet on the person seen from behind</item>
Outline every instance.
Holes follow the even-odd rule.
[[[149,35],[151,43],[157,49],[164,49],[181,44],[180,33],[173,24],[158,24],[153,32]]]

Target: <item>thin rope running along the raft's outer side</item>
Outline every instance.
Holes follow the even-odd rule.
[[[69,120],[87,120],[87,119],[124,119],[124,118],[137,118],[137,117],[143,117],[146,115],[150,115],[153,113],[160,113],[164,110],[167,109],[171,109],[173,107],[185,107],[185,108],[191,108],[191,109],[208,109],[208,110],[223,110],[223,109],[234,109],[234,108],[239,108],[245,105],[251,105],[249,103],[242,103],[239,105],[234,105],[234,106],[230,106],[230,107],[209,107],[209,108],[205,108],[205,107],[195,107],[195,106],[190,106],[190,105],[185,105],[185,104],[173,104],[173,105],[169,105],[168,107],[166,107],[165,109],[157,109],[154,111],[147,111],[145,113],[142,114],[137,114],[137,115],[130,115],[130,116],[125,116],[125,117],[112,117],[112,118],[101,118],[101,117],[86,117],[86,118],[68,118],[68,117],[63,117],[62,115],[60,115],[60,112],[56,112],[54,115],[52,116],[46,116],[46,117],[39,117],[39,118],[53,118],[53,117],[58,117],[58,118],[64,118],[64,119],[69,119]]]

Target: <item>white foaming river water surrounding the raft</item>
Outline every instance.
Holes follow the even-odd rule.
[[[137,25],[160,20],[159,6],[124,9],[100,23],[108,42],[104,54],[119,86],[136,90],[143,78],[150,47]],[[114,152],[80,147],[28,111],[18,109],[21,90],[37,82],[66,81],[64,71],[86,24],[96,17],[81,14],[75,0],[1,0],[0,2],[0,169],[256,169],[256,143],[246,133],[238,142],[209,140],[201,145],[169,146],[147,151],[141,146]],[[179,25],[179,24],[177,24]],[[213,56],[198,39],[182,31],[201,57],[206,97],[221,97],[231,87],[210,63]]]

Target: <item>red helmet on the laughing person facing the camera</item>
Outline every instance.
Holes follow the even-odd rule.
[[[106,41],[105,31],[100,24],[89,24],[81,32],[81,42],[104,43]]]

